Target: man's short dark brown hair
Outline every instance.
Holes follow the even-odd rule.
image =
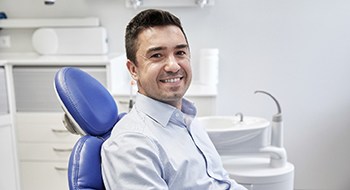
[[[180,28],[182,33],[185,36],[186,42],[187,37],[182,28],[181,21],[175,15],[157,9],[148,9],[141,11],[138,13],[127,25],[125,31],[125,49],[126,49],[126,57],[136,63],[136,51],[137,51],[137,43],[138,43],[138,35],[140,32],[147,28],[151,28],[154,26],[167,26],[174,25]]]

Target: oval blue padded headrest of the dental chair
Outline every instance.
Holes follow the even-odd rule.
[[[88,73],[63,67],[55,75],[54,86],[69,131],[103,136],[117,123],[118,108],[114,98]]]

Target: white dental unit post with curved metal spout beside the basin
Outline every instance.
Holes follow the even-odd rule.
[[[277,105],[278,112],[272,116],[271,122],[271,146],[260,149],[263,153],[270,154],[270,165],[271,167],[278,168],[283,167],[287,163],[287,152],[283,147],[283,122],[282,122],[282,110],[277,99],[270,93],[265,91],[255,91],[256,93],[262,93],[270,96]]]

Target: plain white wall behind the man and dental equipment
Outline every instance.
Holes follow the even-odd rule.
[[[109,53],[124,51],[125,26],[141,9],[124,0],[0,1],[8,18],[98,17]],[[183,22],[195,80],[200,49],[219,49],[217,115],[270,119],[275,105],[254,91],[270,92],[282,107],[295,189],[350,188],[350,1],[216,0],[165,9]],[[11,38],[1,53],[31,50],[23,39]]]

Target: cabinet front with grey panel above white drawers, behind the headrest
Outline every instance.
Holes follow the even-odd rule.
[[[62,123],[54,75],[62,66],[13,66],[22,190],[68,189],[68,160],[78,135]],[[106,84],[106,67],[81,66]]]

